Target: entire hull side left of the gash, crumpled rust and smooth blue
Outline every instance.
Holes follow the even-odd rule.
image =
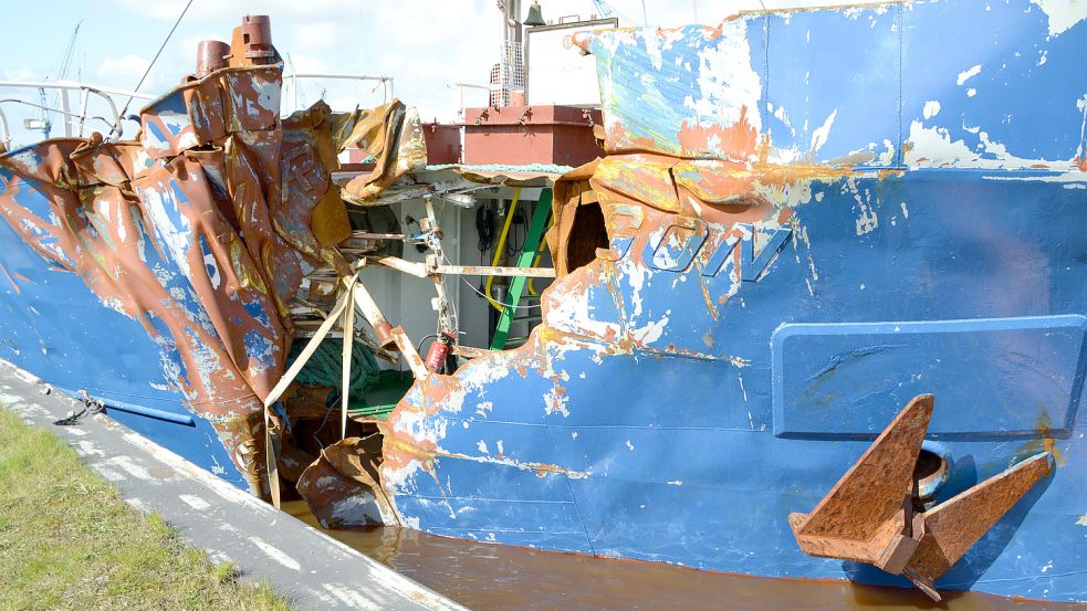
[[[322,103],[281,120],[266,25],[247,17],[229,65],[216,57],[145,107],[137,140],[0,157],[0,356],[258,495],[289,307],[326,296],[307,271],[346,270],[333,133],[364,123]],[[403,119],[386,110],[375,130]]]

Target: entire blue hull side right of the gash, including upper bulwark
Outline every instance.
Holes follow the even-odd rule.
[[[527,345],[421,380],[393,413],[400,520],[906,584],[804,556],[786,520],[931,392],[936,501],[1056,460],[938,584],[1087,600],[1075,7],[918,1],[583,41],[609,247],[548,289]]]

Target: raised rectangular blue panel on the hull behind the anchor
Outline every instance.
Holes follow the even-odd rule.
[[[784,325],[773,335],[774,434],[875,438],[927,389],[947,435],[1069,433],[1087,317]]]

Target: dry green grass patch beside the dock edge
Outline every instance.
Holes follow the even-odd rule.
[[[0,609],[289,610],[0,408]]]

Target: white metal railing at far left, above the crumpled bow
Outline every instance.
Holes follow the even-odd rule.
[[[64,136],[67,138],[73,136],[73,131],[75,133],[74,135],[82,137],[87,122],[102,122],[109,127],[109,135],[107,138],[119,139],[124,134],[124,127],[122,126],[122,119],[124,117],[122,117],[117,112],[117,105],[114,103],[113,96],[148,101],[155,99],[155,96],[153,95],[114,87],[91,85],[76,81],[0,81],[0,88],[36,89],[39,92],[50,89],[59,92],[60,107],[36,104],[17,97],[2,98],[0,99],[0,105],[19,104],[22,106],[38,108],[40,110],[45,110],[48,113],[60,114],[64,117],[62,123],[64,125]],[[73,112],[72,109],[72,99],[70,97],[72,92],[80,92],[79,112]],[[109,110],[107,116],[87,114],[87,106],[90,105],[92,95],[105,101]],[[11,131],[8,125],[8,117],[3,114],[2,108],[0,108],[0,129],[3,130],[3,133],[0,134],[0,141],[3,143],[6,148],[10,148]]]

